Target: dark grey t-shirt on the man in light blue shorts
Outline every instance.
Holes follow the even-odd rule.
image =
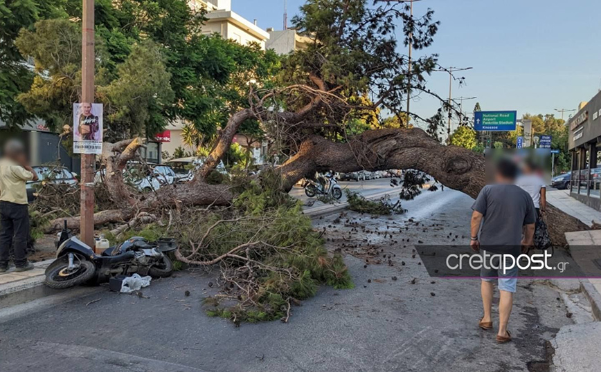
[[[486,185],[472,210],[484,216],[480,245],[491,252],[519,254],[523,225],[537,221],[532,198],[516,185]]]

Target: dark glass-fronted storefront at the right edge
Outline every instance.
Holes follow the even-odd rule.
[[[568,120],[571,196],[601,210],[601,92]]]

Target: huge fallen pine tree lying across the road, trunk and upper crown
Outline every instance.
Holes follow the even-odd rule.
[[[301,7],[295,26],[314,42],[282,57],[271,86],[248,84],[247,106],[232,111],[190,183],[136,192],[125,185],[123,169],[143,143],[130,139],[105,144],[102,165],[107,187],[120,207],[99,212],[95,223],[123,223],[141,212],[156,214],[157,209],[174,205],[231,203],[235,185],[209,185],[206,179],[248,120],[259,122],[265,136],[271,138],[271,154],[287,158],[276,169],[282,191],[315,171],[418,169],[447,187],[476,197],[485,185],[482,154],[441,143],[447,116],[460,122],[469,120],[456,102],[442,99],[426,86],[432,71],[447,70],[438,65],[436,55],[414,58],[410,66],[406,56],[397,53],[395,20],[403,21],[405,37],[412,35],[404,42],[411,42],[417,51],[431,45],[438,30],[433,11],[414,17],[406,4],[397,1],[379,1],[373,6],[365,0],[326,2],[307,0]],[[319,11],[324,8],[328,17]],[[451,77],[463,82],[463,77],[452,73]],[[440,100],[436,115],[424,119],[417,113],[402,112],[407,97],[417,95]],[[379,128],[378,115],[383,108],[396,115],[400,127],[365,130]],[[427,130],[409,128],[407,118]],[[564,232],[586,229],[553,206],[548,208],[547,218],[556,244],[565,242]],[[69,218],[68,223],[76,228],[78,218]],[[57,219],[48,230],[61,226],[62,219]]]

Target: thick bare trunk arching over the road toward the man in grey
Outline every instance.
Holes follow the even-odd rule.
[[[476,198],[486,184],[485,161],[481,154],[463,147],[440,145],[422,129],[366,131],[348,143],[334,143],[321,136],[312,136],[279,171],[283,187],[289,190],[300,178],[311,176],[315,171],[361,169],[418,169],[472,198]],[[566,232],[589,230],[580,220],[553,205],[547,207],[546,220],[556,245],[566,244]]]

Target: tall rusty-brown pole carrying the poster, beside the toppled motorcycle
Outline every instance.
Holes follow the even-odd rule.
[[[81,103],[94,102],[94,0],[83,0],[82,11],[82,97]],[[75,124],[75,123],[74,123]],[[96,155],[81,154],[81,240],[94,247],[94,167]]]

